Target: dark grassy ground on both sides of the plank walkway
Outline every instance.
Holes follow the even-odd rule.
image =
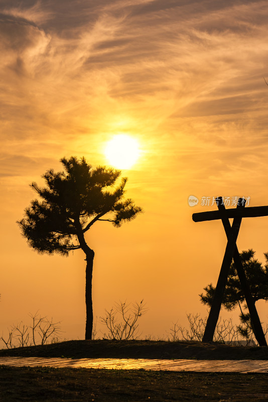
[[[166,341],[67,341],[1,356],[268,359],[268,348]],[[1,402],[265,401],[267,374],[0,366]]]

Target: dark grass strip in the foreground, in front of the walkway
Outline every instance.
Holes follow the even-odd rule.
[[[261,373],[0,367],[1,402],[268,400]]]

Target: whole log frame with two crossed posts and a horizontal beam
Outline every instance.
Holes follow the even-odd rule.
[[[237,271],[237,275],[241,284],[241,289],[244,293],[247,308],[250,314],[252,330],[259,346],[267,346],[265,336],[259,321],[258,313],[255,307],[254,299],[251,295],[248,281],[245,276],[243,265],[236,246],[236,240],[239,233],[242,218],[246,217],[262,217],[268,216],[268,206],[264,207],[245,207],[245,199],[239,198],[237,207],[226,210],[222,202],[222,197],[216,198],[218,211],[201,212],[193,214],[194,222],[214,221],[221,219],[226,236],[227,245],[221,264],[220,274],[215,289],[215,295],[212,300],[211,309],[207,319],[207,325],[203,335],[203,342],[212,342],[219,318],[220,308],[223,299],[224,289],[227,283],[228,274],[232,259]],[[233,218],[232,226],[229,218]]]

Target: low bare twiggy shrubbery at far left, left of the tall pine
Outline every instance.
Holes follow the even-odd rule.
[[[0,341],[3,341],[8,349],[59,341],[57,336],[62,332],[60,322],[53,323],[52,319],[42,317],[38,312],[35,315],[29,314],[29,316],[31,317],[30,325],[20,322],[8,329],[7,338],[4,338],[3,335],[0,337]]]

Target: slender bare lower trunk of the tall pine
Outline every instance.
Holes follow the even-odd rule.
[[[92,271],[94,251],[86,253],[86,333],[85,339],[92,339],[93,306],[92,306]]]

